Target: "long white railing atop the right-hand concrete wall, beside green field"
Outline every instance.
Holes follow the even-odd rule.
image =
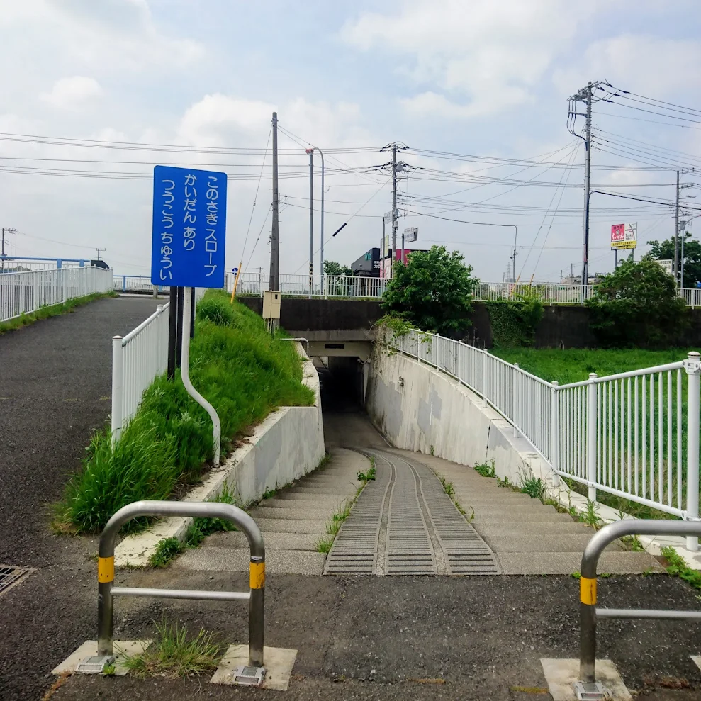
[[[560,386],[439,335],[393,336],[495,408],[556,473],[688,520],[699,517],[700,355]]]

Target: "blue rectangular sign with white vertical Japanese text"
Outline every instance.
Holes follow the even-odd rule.
[[[153,169],[151,283],[224,286],[226,174]]]

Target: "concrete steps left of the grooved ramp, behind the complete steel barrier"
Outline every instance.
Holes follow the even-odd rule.
[[[326,555],[318,552],[317,544],[320,539],[330,538],[327,523],[354,498],[361,484],[356,475],[369,466],[364,456],[335,449],[325,468],[262,500],[250,511],[263,533],[269,573],[322,573]],[[249,554],[244,534],[215,533],[199,548],[179,557],[174,566],[200,571],[247,571]]]

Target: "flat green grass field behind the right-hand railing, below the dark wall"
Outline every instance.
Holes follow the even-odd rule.
[[[518,363],[525,371],[561,385],[580,382],[590,372],[598,376],[664,365],[683,360],[694,348],[671,348],[663,351],[641,349],[593,350],[570,348],[566,350],[543,348],[505,348],[490,351],[510,363]]]

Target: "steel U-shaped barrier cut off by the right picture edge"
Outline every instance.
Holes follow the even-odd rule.
[[[588,542],[581,564],[580,578],[580,657],[578,684],[596,684],[596,619],[668,618],[701,619],[698,611],[658,611],[646,609],[599,609],[596,607],[596,568],[605,547],[627,535],[701,536],[701,520],[656,521],[625,519],[604,526]],[[602,697],[603,698],[603,697]]]

